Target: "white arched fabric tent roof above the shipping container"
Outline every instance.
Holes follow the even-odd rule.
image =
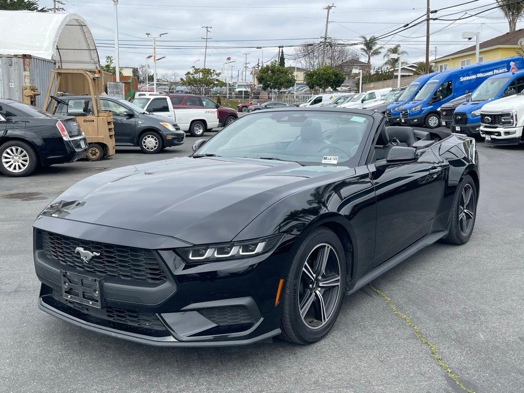
[[[53,61],[57,68],[100,68],[93,35],[76,14],[0,11],[0,56],[20,54]]]

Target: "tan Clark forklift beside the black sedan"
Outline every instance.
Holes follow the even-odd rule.
[[[88,140],[86,158],[90,161],[97,161],[113,156],[115,154],[113,115],[111,112],[102,110],[100,92],[103,89],[100,73],[84,70],[52,70],[42,109],[54,113],[59,103],[67,105],[58,96],[59,92],[64,91],[73,95],[91,97],[91,101],[86,101],[86,104],[91,105],[86,105],[84,108],[85,115],[75,117],[78,126]]]

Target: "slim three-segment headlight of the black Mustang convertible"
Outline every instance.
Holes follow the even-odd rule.
[[[177,248],[175,251],[189,263],[217,262],[226,259],[249,258],[273,250],[282,235],[274,235],[242,242],[209,244]]]

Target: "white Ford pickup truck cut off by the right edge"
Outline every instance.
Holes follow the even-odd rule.
[[[524,94],[488,102],[481,109],[481,136],[488,145],[524,143]]]

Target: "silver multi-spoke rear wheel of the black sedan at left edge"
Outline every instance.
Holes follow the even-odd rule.
[[[29,176],[38,165],[35,150],[24,141],[12,140],[0,146],[0,172],[5,176]]]

